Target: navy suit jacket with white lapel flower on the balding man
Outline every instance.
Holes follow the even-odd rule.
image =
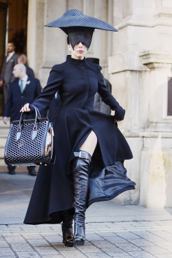
[[[32,103],[39,94],[41,94],[41,85],[38,79],[28,77],[28,84],[25,85],[23,94],[21,94],[21,89],[19,87],[19,79],[14,80],[10,83],[8,99],[3,111],[3,116],[10,116],[11,121],[19,120],[21,116],[21,107],[23,107],[25,103]],[[34,115],[32,115],[32,118],[33,117]]]

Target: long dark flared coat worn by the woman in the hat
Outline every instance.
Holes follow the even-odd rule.
[[[115,118],[122,120],[125,110],[107,90],[98,65],[67,56],[65,63],[52,67],[47,86],[33,105],[41,111],[56,92],[61,96],[54,124],[56,162],[40,166],[24,223],[60,223],[60,211],[72,208],[71,161],[91,131],[96,133],[98,144],[90,168],[87,206],[134,189],[135,183],[127,178],[121,162],[132,158],[131,150],[114,124],[114,116],[94,111],[97,91],[116,111]]]

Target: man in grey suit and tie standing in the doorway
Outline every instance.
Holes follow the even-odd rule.
[[[3,86],[3,96],[4,96],[4,103],[6,104],[8,90],[10,82],[14,80],[14,76],[12,76],[12,70],[14,65],[18,63],[17,58],[18,55],[15,53],[15,44],[12,41],[8,42],[8,56],[5,57],[3,62],[3,68],[1,72],[1,79],[0,79],[0,87]]]

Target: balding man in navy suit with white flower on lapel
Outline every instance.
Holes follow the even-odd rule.
[[[9,116],[11,121],[19,120],[21,107],[25,103],[33,103],[34,99],[41,94],[39,80],[28,77],[25,65],[21,63],[15,65],[12,74],[14,74],[16,80],[10,83],[8,98],[3,111],[3,122],[5,124],[7,124]],[[29,118],[34,118],[34,115],[30,115]],[[8,173],[14,175],[14,169],[14,166],[8,166]],[[30,175],[36,175],[34,166],[28,166],[28,171]]]

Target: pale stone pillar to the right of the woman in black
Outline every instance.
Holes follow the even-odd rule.
[[[114,0],[113,54],[109,58],[113,94],[126,109],[119,127],[133,151],[125,162],[136,191],[120,195],[123,204],[149,208],[172,205],[171,118],[164,115],[164,88],[171,77],[171,1]],[[168,140],[166,140],[168,136]],[[156,200],[155,200],[156,198]]]

